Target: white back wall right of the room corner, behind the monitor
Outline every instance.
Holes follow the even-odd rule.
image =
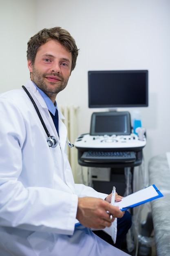
[[[68,29],[80,48],[77,66],[58,101],[79,105],[79,134],[89,132],[88,70],[149,70],[149,107],[141,109],[150,157],[170,150],[170,1],[38,0],[38,29]],[[44,17],[48,16],[46,19]],[[97,110],[99,111],[99,110]],[[130,109],[131,111],[131,109]]]

